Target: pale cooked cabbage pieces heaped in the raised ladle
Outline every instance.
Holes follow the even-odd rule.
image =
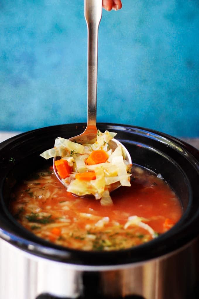
[[[116,133],[98,130],[96,141],[93,144],[78,144],[65,138],[56,138],[54,147],[41,154],[45,159],[61,157],[68,162],[71,173],[68,177],[62,178],[62,182],[67,187],[67,191],[78,196],[93,194],[96,199],[101,199],[101,205],[112,205],[109,194],[111,185],[117,183],[118,186],[131,186],[129,170],[131,165],[125,160],[123,150],[120,145],[112,151],[109,141]],[[94,150],[104,150],[108,158],[103,163],[87,165],[85,163],[88,156]],[[77,173],[92,171],[96,178],[90,181],[80,180],[75,177]]]

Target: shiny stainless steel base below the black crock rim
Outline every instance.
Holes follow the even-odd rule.
[[[196,299],[197,250],[198,240],[194,240],[170,256],[144,263],[73,266],[34,256],[1,240],[0,298],[92,298],[95,294],[93,298]]]

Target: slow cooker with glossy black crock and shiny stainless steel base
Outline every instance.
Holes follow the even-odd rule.
[[[85,124],[51,126],[0,144],[0,298],[198,298],[199,153],[169,135],[140,127],[98,123],[117,132],[133,163],[161,173],[180,198],[183,216],[146,244],[112,252],[86,252],[42,240],[7,209],[12,187],[46,162],[39,154],[56,137],[70,138]]]

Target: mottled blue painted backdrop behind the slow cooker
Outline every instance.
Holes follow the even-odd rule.
[[[87,118],[83,0],[0,3],[0,130]],[[97,121],[199,136],[199,1],[103,10]]]

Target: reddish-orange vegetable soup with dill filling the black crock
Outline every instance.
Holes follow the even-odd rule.
[[[180,201],[163,179],[132,169],[131,187],[111,193],[113,205],[66,191],[52,168],[23,181],[11,194],[12,215],[33,234],[74,249],[130,248],[168,231],[181,217]]]

